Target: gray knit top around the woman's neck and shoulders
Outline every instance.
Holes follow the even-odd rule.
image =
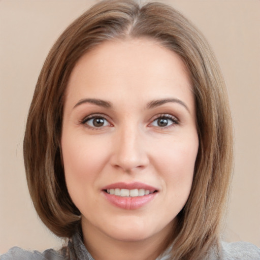
[[[156,260],[170,260],[170,248],[156,258]],[[11,248],[0,260],[94,260],[82,242],[80,233],[60,250],[53,249],[39,251],[26,251],[19,247]],[[222,243],[222,256],[212,250],[205,260],[260,260],[260,249],[246,242]]]

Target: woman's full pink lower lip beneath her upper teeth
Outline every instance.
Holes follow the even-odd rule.
[[[139,197],[119,197],[115,195],[110,195],[106,191],[103,191],[107,200],[112,203],[114,206],[121,209],[139,209],[149,202],[151,202],[158,192],[154,192],[148,195],[139,196]]]

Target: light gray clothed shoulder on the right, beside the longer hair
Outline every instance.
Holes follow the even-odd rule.
[[[224,260],[260,260],[260,249],[247,242],[222,242],[222,253]]]

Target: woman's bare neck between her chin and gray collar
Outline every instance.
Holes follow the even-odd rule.
[[[111,238],[93,226],[82,225],[83,243],[95,260],[155,260],[170,243],[172,223],[152,237],[138,241]]]

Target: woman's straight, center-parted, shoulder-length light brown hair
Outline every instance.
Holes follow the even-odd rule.
[[[225,83],[207,41],[182,14],[161,3],[108,0],[92,6],[58,38],[41,70],[23,143],[30,196],[44,224],[70,238],[80,223],[64,179],[61,126],[70,74],[79,58],[106,41],[146,38],[185,63],[196,101],[199,150],[189,198],[177,216],[174,259],[200,259],[220,248],[220,227],[233,165],[232,121]]]

